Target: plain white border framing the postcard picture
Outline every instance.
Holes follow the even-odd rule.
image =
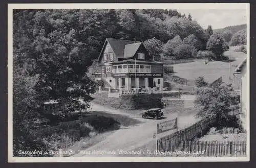
[[[13,157],[12,156],[12,9],[246,9],[247,156],[246,157]],[[8,162],[216,162],[249,161],[249,4],[8,4]]]

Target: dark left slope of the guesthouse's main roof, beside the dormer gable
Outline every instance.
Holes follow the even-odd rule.
[[[106,40],[110,43],[117,58],[123,58],[125,45],[134,43],[134,41],[114,38],[106,38]]]

